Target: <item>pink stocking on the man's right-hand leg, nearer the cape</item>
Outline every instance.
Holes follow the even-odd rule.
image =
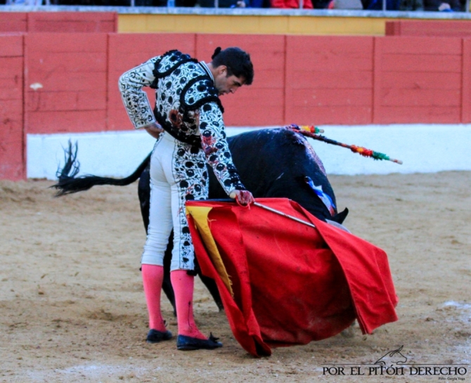
[[[193,289],[195,277],[188,275],[186,270],[175,270],[170,273],[172,287],[175,292],[176,321],[179,325],[179,335],[198,339],[207,339],[202,335],[193,318]]]

